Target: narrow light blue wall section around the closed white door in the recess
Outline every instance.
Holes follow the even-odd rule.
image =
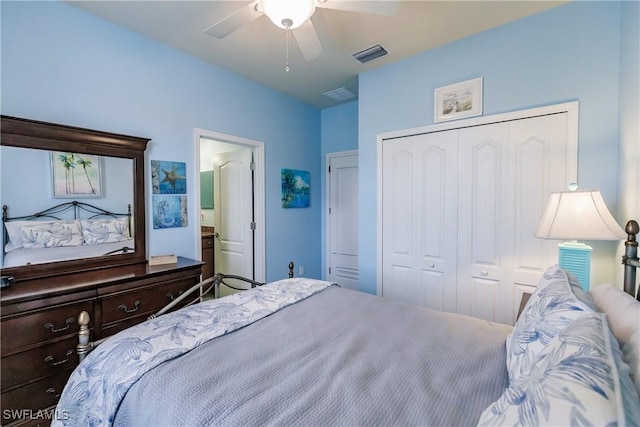
[[[327,207],[325,203],[324,195],[327,194],[326,186],[326,171],[327,171],[327,154],[335,153],[338,151],[348,151],[358,149],[358,101],[351,101],[346,104],[340,104],[335,107],[325,108],[321,113],[321,139],[320,139],[320,151],[321,151],[321,167],[323,172],[322,177],[322,224],[320,239],[321,243],[321,258],[322,258],[322,278],[326,279],[327,271],[327,256],[326,256],[326,240],[324,237],[327,235]]]

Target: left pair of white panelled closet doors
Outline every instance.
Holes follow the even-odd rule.
[[[383,296],[456,310],[458,131],[383,146]]]

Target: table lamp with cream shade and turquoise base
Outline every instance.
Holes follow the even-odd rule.
[[[534,235],[569,240],[558,244],[558,265],[576,276],[585,291],[589,290],[592,248],[577,240],[623,240],[627,236],[598,190],[551,193]]]

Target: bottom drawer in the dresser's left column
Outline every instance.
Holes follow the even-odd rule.
[[[42,408],[48,408],[58,403],[62,389],[71,376],[72,370],[62,371],[52,377],[44,378],[23,387],[2,393],[2,425],[20,419],[51,417],[52,413],[44,414]],[[51,419],[47,420],[49,424]]]

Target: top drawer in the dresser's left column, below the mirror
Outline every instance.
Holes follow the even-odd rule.
[[[73,335],[78,332],[81,311],[93,313],[93,301],[54,306],[24,316],[3,319],[2,355],[8,356],[25,347]]]

